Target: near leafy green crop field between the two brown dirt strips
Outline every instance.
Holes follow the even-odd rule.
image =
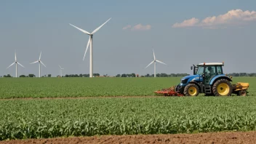
[[[256,129],[256,97],[0,100],[0,140]]]

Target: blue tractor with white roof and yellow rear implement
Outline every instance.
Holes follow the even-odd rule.
[[[175,92],[185,96],[199,93],[212,96],[229,96],[232,93],[247,95],[248,83],[231,84],[231,77],[223,73],[224,63],[200,63],[191,66],[192,76],[185,76],[175,87]]]

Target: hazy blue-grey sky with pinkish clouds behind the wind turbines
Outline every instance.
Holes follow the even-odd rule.
[[[89,36],[93,36],[94,73],[192,73],[198,63],[224,61],[224,73],[255,73],[256,1],[0,1],[0,76],[89,73]]]

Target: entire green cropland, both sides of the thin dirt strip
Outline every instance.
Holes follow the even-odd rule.
[[[0,79],[0,140],[256,130],[255,80],[233,78],[249,82],[248,97],[125,97],[180,78]],[[23,97],[32,99],[9,100]]]

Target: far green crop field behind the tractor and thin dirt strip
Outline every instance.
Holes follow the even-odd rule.
[[[180,83],[177,78],[2,78],[0,98],[148,96]],[[249,82],[249,95],[256,94],[256,77],[237,77]]]

